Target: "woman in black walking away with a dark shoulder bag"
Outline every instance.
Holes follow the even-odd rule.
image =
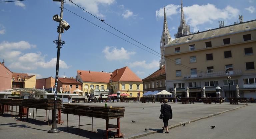
[[[167,103],[168,103],[168,99],[164,99],[164,104],[161,105],[161,110],[160,110],[161,113],[163,113],[164,126],[162,128],[166,129],[165,133],[169,133],[168,132],[168,120],[172,119],[172,108]]]

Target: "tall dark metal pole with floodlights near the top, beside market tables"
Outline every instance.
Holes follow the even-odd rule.
[[[57,85],[58,85],[58,78],[59,78],[59,62],[60,62],[60,49],[65,44],[64,41],[61,41],[61,33],[64,33],[64,29],[68,30],[70,28],[69,24],[63,20],[63,5],[64,5],[64,0],[52,0],[52,1],[58,1],[61,2],[61,7],[60,7],[60,16],[59,15],[54,15],[53,20],[56,22],[59,22],[59,26],[57,29],[57,32],[59,33],[59,38],[58,40],[53,41],[55,45],[57,45],[57,62],[56,62],[56,76],[55,76],[55,91],[54,91],[54,107],[52,110],[52,128],[51,130],[48,131],[48,133],[59,133],[60,130],[57,128],[57,123],[56,123],[56,108],[57,108]]]

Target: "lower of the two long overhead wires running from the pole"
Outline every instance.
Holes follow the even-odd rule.
[[[68,10],[67,8],[64,8],[64,9]],[[112,35],[114,35],[114,36],[116,36],[116,37],[118,37],[118,38],[120,38],[120,39],[122,39],[122,40],[124,40],[124,41],[126,41],[126,42],[128,42],[128,43],[130,43],[130,44],[132,44],[132,45],[134,45],[134,46],[136,46],[136,47],[142,49],[142,50],[145,50],[145,51],[147,51],[147,52],[149,52],[149,53],[151,53],[151,54],[153,54],[153,55],[155,55],[155,56],[161,58],[159,55],[154,54],[154,53],[152,53],[152,52],[150,52],[150,51],[148,51],[148,50],[146,50],[146,49],[144,49],[144,48],[142,48],[142,47],[139,47],[138,45],[135,45],[135,44],[131,43],[130,41],[127,41],[127,40],[123,39],[122,37],[120,37],[120,36],[118,36],[118,35],[116,35],[116,34],[110,32],[110,31],[108,31],[108,30],[106,30],[106,29],[104,29],[104,28],[102,28],[102,27],[100,27],[100,26],[98,26],[98,25],[92,23],[91,21],[89,21],[89,20],[87,20],[87,19],[81,17],[80,15],[78,15],[78,14],[76,14],[76,13],[70,11],[70,10],[68,10],[68,11],[71,12],[71,13],[73,13],[73,14],[75,14],[75,15],[77,15],[78,17],[80,17],[80,18],[82,18],[82,19],[88,21],[89,23],[91,23],[91,24],[93,24],[93,25],[95,25],[95,26],[97,26],[97,27],[99,27],[99,28],[101,28],[101,29],[107,31],[108,33],[110,33],[110,34],[112,34]],[[168,60],[168,59],[167,59],[167,60]],[[171,59],[170,59],[170,60],[171,60]],[[170,61],[170,60],[169,60],[169,61]],[[177,62],[175,62],[175,61],[173,61],[173,60],[171,60],[170,62],[177,64]],[[181,66],[181,67],[183,67],[183,68],[186,68],[186,69],[191,69],[191,68],[187,68],[185,65],[182,65],[182,64],[180,64],[180,63],[179,63],[179,66]],[[184,66],[185,66],[185,67],[184,67]]]

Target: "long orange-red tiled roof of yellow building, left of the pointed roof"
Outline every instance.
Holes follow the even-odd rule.
[[[88,81],[88,82],[108,83],[111,75],[110,73],[106,73],[106,72],[86,71],[86,70],[77,70],[77,72],[81,76],[83,81]]]

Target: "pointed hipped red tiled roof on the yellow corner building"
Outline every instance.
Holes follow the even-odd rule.
[[[111,79],[113,81],[141,81],[142,80],[128,67],[117,69],[113,72]]]

